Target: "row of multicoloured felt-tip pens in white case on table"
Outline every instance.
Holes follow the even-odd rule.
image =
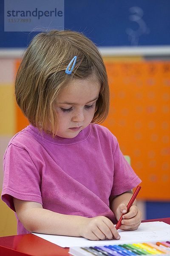
[[[134,244],[103,245],[91,247],[70,247],[69,253],[74,256],[127,256],[153,255],[170,256],[170,241],[146,242]]]

